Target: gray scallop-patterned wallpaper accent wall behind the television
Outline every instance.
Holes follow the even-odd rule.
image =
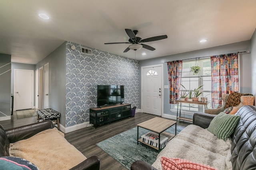
[[[71,49],[71,45],[76,47]],[[81,47],[92,55],[81,53]],[[124,102],[139,103],[138,61],[68,41],[66,43],[66,127],[89,121],[97,107],[97,85],[124,85]]]

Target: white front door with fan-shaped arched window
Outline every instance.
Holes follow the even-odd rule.
[[[162,66],[142,68],[142,111],[162,113]]]

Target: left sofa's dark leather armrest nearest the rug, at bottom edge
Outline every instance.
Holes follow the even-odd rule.
[[[91,156],[81,162],[80,164],[74,166],[70,170],[99,170],[100,169],[100,159],[97,156]]]

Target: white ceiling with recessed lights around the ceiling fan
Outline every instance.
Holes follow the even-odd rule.
[[[136,51],[137,60],[245,41],[256,28],[256,0],[0,1],[0,53],[16,63],[36,64],[64,41],[135,59],[123,53],[130,44],[104,45],[128,42],[125,28],[142,39],[168,36],[145,43],[156,50]]]

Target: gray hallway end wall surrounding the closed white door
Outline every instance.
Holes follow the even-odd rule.
[[[23,69],[23,70],[34,70],[34,84],[33,86],[35,87],[35,68],[36,65],[35,64],[23,64],[23,63],[12,63],[12,84],[11,84],[11,94],[14,94],[14,69]],[[34,92],[32,92],[33,96],[35,96],[35,88],[34,88]],[[32,101],[32,103],[35,106],[35,98],[34,98],[34,102]]]

